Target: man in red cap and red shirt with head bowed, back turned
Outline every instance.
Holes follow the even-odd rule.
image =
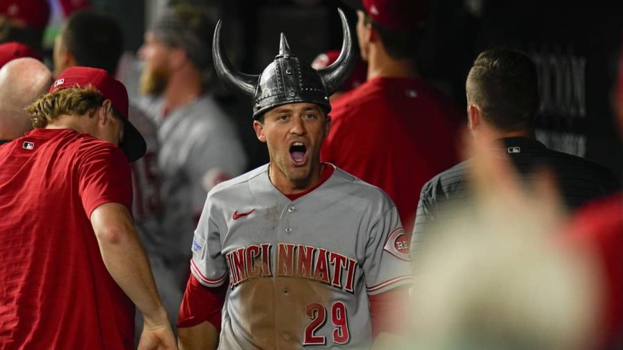
[[[141,349],[175,349],[130,214],[145,140],[127,106],[106,71],[73,67],[0,146],[1,348],[132,349],[136,305]]]

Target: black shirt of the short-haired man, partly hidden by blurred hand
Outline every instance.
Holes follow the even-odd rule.
[[[588,201],[612,194],[620,189],[620,182],[608,168],[590,160],[567,153],[552,151],[531,138],[505,138],[505,153],[522,178],[535,171],[549,169],[553,172],[567,208],[576,210]],[[448,203],[460,206],[473,205],[467,173],[471,160],[437,174],[423,185],[418,203],[412,245],[421,242],[429,225],[449,219]]]

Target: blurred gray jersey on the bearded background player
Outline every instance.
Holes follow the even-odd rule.
[[[173,110],[158,128],[163,238],[170,259],[188,262],[188,241],[208,190],[241,174],[246,156],[232,122],[204,95]]]

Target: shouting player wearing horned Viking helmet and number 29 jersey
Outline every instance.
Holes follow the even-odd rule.
[[[270,163],[208,194],[180,308],[182,349],[214,347],[218,328],[220,349],[369,347],[401,308],[410,254],[396,206],[319,160],[328,97],[353,63],[340,16],[343,46],[333,65],[302,63],[282,34],[260,76],[234,71],[216,26],[216,72],[254,97],[253,127]]]

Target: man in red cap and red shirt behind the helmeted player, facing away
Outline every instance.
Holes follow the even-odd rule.
[[[344,2],[357,10],[367,81],[332,104],[321,158],[387,192],[411,235],[422,185],[458,162],[464,118],[416,69],[428,0]]]

